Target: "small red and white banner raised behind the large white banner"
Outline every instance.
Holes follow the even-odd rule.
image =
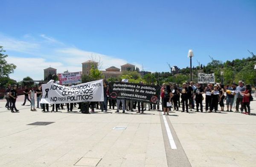
[[[61,73],[58,75],[58,77],[59,77],[60,85],[81,83],[80,72]]]

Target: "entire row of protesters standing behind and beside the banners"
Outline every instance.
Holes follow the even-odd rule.
[[[103,102],[90,102],[90,112],[95,112],[96,109],[101,109],[102,112],[108,112],[108,109],[122,110],[125,111],[135,111],[137,113],[144,113],[145,110],[158,110],[163,111],[163,114],[169,115],[170,110],[179,111],[181,107],[181,112],[189,112],[193,110],[199,112],[212,112],[212,111],[227,111],[233,112],[232,108],[235,108],[234,112],[241,112],[250,115],[250,101],[253,100],[251,95],[250,85],[245,85],[242,81],[239,81],[238,85],[233,83],[232,85],[223,84],[195,84],[194,82],[183,83],[182,86],[177,84],[163,84],[161,85],[160,98],[156,104],[149,104],[140,101],[132,101],[125,99],[111,99],[109,98],[109,85],[107,82],[104,83],[104,101]],[[69,85],[71,86],[71,85]],[[11,112],[17,112],[16,99],[17,99],[17,85],[8,85],[5,92],[6,98],[6,108],[11,110]],[[30,102],[31,111],[37,111],[35,108],[35,96],[37,108],[41,108],[43,112],[49,111],[48,104],[40,104],[42,91],[41,86],[36,89],[31,88],[29,90],[26,86],[23,90],[24,102],[22,105],[26,104],[26,100]],[[205,98],[203,96],[205,94]],[[205,110],[203,106],[203,101],[205,101]],[[226,103],[227,110],[224,108],[224,103]],[[218,108],[220,105],[220,110]],[[58,112],[58,110],[64,110],[64,106],[67,107],[68,112],[72,112],[73,108],[78,106],[81,110],[81,103],[66,103],[66,104],[53,104],[52,112]],[[108,108],[109,106],[109,108]],[[161,110],[160,110],[161,106]],[[116,109],[115,109],[116,108]],[[240,108],[240,111],[239,111]]]

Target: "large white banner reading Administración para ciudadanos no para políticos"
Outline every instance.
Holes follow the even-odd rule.
[[[40,103],[60,104],[76,102],[103,102],[103,80],[87,82],[75,86],[62,86],[50,80],[42,85]]]

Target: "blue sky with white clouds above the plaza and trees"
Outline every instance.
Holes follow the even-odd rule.
[[[43,69],[81,71],[131,63],[145,71],[207,65],[256,54],[256,0],[1,0],[0,45],[17,65],[10,78]],[[197,62],[198,61],[198,62]]]

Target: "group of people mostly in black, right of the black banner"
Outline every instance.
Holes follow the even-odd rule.
[[[174,110],[178,111],[180,103],[182,104],[181,112],[189,112],[195,109],[197,112],[209,112],[213,110],[233,112],[241,112],[250,115],[250,101],[253,100],[251,95],[250,85],[245,85],[242,81],[239,84],[233,83],[232,85],[223,84],[207,84],[203,87],[202,84],[194,82],[183,83],[182,87],[176,84],[166,85],[163,84],[161,89],[161,98],[163,104],[164,114],[171,109],[168,107],[168,102],[173,104]],[[203,109],[203,101],[205,93],[205,110]],[[180,102],[181,99],[181,102]],[[224,102],[226,102],[227,110],[224,109]],[[220,110],[218,109],[220,105]],[[240,111],[239,111],[240,106]]]

